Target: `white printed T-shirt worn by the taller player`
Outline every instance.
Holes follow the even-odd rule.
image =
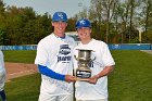
[[[59,74],[73,75],[73,49],[76,42],[73,38],[65,36],[60,38],[54,34],[41,39],[37,47],[35,64],[49,67]],[[56,80],[41,74],[40,92],[43,94],[69,94],[73,92],[73,83]]]

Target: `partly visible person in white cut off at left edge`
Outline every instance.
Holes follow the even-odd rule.
[[[0,96],[2,101],[7,101],[5,92],[4,92],[4,84],[5,84],[4,60],[3,60],[3,53],[2,51],[0,51]]]

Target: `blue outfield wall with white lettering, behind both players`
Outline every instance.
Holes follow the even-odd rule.
[[[117,43],[109,45],[110,50],[152,50],[151,43]],[[0,46],[0,50],[37,50],[37,45]]]

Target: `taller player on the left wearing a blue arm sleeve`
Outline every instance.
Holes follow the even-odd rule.
[[[38,43],[35,64],[41,73],[39,101],[73,101],[73,49],[76,42],[65,35],[67,16],[55,12],[54,31]]]

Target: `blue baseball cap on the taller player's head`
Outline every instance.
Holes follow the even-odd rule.
[[[52,17],[52,22],[67,22],[67,15],[64,12],[55,12]]]

